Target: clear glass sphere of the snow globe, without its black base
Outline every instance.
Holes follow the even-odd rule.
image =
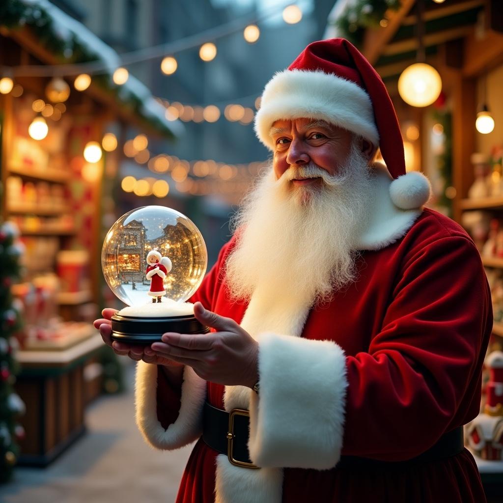
[[[133,316],[169,315],[167,306],[160,310],[154,303],[170,304],[172,314],[182,314],[175,303],[182,307],[198,289],[207,262],[199,229],[182,213],[164,206],[144,206],[119,218],[106,235],[101,255],[108,286],[136,309],[126,308]],[[162,278],[154,274],[154,280],[147,268],[164,271],[162,264],[166,273]]]

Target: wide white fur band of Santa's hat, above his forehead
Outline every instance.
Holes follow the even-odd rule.
[[[274,149],[269,130],[280,119],[322,119],[379,144],[369,95],[355,82],[321,70],[284,70],[267,83],[255,132]]]

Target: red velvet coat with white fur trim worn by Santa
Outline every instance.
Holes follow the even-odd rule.
[[[229,302],[221,274],[233,244],[234,239],[222,248],[217,264],[191,301],[200,300],[206,308],[241,322],[247,305]],[[305,323],[301,323],[301,338],[306,347],[315,346],[316,340],[328,340],[344,351],[347,381],[343,419],[338,423],[342,428],[342,451],[337,456],[407,460],[426,451],[444,433],[468,423],[479,412],[481,368],[492,327],[490,291],[473,241],[458,224],[429,209],[414,219],[404,236],[384,243],[379,249],[362,251],[357,265],[360,273],[357,282],[347,291],[337,293],[329,305],[309,310]],[[297,361],[291,361],[291,366],[295,367]],[[141,368],[146,367],[144,364]],[[265,367],[263,371],[266,375]],[[144,393],[148,398],[138,405],[137,421],[145,438],[160,448],[187,443],[190,435],[184,437],[185,432],[177,430],[181,416],[193,423],[195,433],[190,440],[198,438],[197,414],[187,414],[184,405],[181,407],[181,391],[172,389],[160,374],[157,381],[156,371],[148,378],[141,377],[141,372],[140,369],[137,397]],[[262,369],[260,394],[263,393],[261,372]],[[304,380],[311,379],[309,372],[300,373],[305,375]],[[186,375],[184,386],[188,387],[191,380],[194,376]],[[182,390],[184,393],[188,395]],[[224,408],[223,386],[207,383],[203,390],[199,384],[198,393],[198,398],[187,400],[200,407],[200,400],[207,393],[212,405]],[[295,390],[289,394],[294,395]],[[278,397],[282,397],[281,392]],[[330,397],[322,396],[314,420],[301,426],[307,438],[316,441],[317,432],[324,435]],[[274,408],[275,403],[281,407],[281,400],[268,404],[265,393],[259,399],[264,400],[264,408]],[[292,410],[282,413],[288,430]],[[257,428],[261,428],[258,421]],[[280,435],[281,428],[276,433]],[[164,434],[172,435],[169,441],[164,440]],[[287,440],[294,444],[296,438]],[[332,440],[327,437],[326,442],[331,445]],[[333,443],[334,450],[338,448],[337,442],[336,439]],[[295,446],[292,449],[292,453],[285,455],[286,460],[290,455],[295,457]],[[214,501],[216,455],[198,440],[177,503]],[[255,456],[260,458],[261,454]],[[276,452],[262,456],[265,464],[261,466],[293,466],[282,472],[282,483],[280,479],[279,497],[288,503],[485,500],[476,464],[467,450],[438,461],[367,471],[341,469],[333,464],[328,464],[331,469],[313,469],[296,461],[275,465],[269,463],[268,456],[274,457]],[[241,483],[236,479],[235,485]],[[245,491],[246,485],[242,487],[240,490]],[[228,494],[220,494],[221,491],[217,487],[217,501],[232,500]],[[253,497],[249,500],[260,501]]]

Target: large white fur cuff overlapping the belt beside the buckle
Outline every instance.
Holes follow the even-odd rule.
[[[250,459],[262,467],[333,468],[341,456],[346,357],[330,341],[259,339],[260,393],[251,394]]]

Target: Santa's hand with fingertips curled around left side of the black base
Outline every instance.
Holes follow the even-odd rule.
[[[143,360],[145,363],[155,365],[164,365],[166,367],[180,367],[181,364],[174,362],[169,358],[156,355],[149,346],[140,346],[138,344],[125,344],[112,341],[112,316],[117,312],[116,309],[105,308],[102,311],[103,318],[94,321],[94,327],[100,330],[103,342],[110,346],[116,355],[128,356],[136,362]]]

